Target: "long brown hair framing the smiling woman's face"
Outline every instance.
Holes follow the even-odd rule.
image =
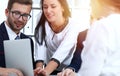
[[[41,8],[43,10],[43,1],[44,0],[41,0]],[[61,6],[63,7],[64,9],[64,12],[63,12],[63,17],[65,19],[68,19],[69,17],[71,17],[71,13],[70,13],[70,10],[69,10],[69,6],[68,6],[68,3],[66,0],[58,0],[59,3],[61,4]],[[42,45],[43,44],[43,41],[45,41],[45,36],[46,36],[46,32],[45,32],[45,21],[46,21],[46,17],[42,11],[42,15],[41,15],[41,18],[35,28],[35,40],[40,44]],[[39,28],[42,29],[41,31],[41,36],[39,36]],[[41,38],[41,41],[39,41],[39,38]],[[45,44],[46,44],[46,41],[45,41]]]

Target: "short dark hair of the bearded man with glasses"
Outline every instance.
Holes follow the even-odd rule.
[[[32,8],[32,0],[9,0],[7,9],[11,10],[12,6],[14,3],[20,3],[20,4],[25,4],[25,5],[31,5]]]

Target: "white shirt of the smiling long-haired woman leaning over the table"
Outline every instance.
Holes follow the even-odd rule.
[[[36,43],[35,60],[44,60],[48,63],[51,58],[55,58],[61,63],[61,67],[62,64],[69,65],[76,48],[77,36],[79,32],[87,28],[69,19],[64,30],[56,34],[51,30],[48,22],[46,22],[47,48]],[[41,29],[39,33],[41,33]]]

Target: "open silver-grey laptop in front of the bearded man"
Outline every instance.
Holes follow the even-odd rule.
[[[24,76],[34,76],[30,39],[5,40],[4,50],[7,68],[19,69]]]

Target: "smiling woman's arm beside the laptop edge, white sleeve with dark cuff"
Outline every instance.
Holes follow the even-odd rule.
[[[35,43],[35,51],[34,51],[35,70],[34,70],[34,76],[38,75],[40,73],[40,70],[43,69],[44,60],[45,60],[45,51],[46,51],[46,47],[45,47],[44,43],[43,43],[43,45],[39,45],[37,42]]]

